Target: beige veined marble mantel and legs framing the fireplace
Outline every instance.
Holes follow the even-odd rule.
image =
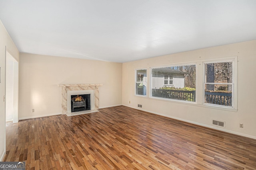
[[[94,90],[95,109],[99,109],[99,90],[98,87],[102,84],[58,84],[61,87],[61,113],[65,115],[67,110],[67,92],[75,90]]]

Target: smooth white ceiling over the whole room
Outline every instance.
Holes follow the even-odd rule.
[[[24,53],[128,62],[256,39],[256,0],[0,0]]]

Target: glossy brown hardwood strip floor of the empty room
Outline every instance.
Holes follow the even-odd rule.
[[[28,170],[256,169],[256,140],[125,106],[7,123],[3,161]]]

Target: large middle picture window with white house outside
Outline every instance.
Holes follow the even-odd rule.
[[[196,65],[152,68],[151,97],[196,101]]]

